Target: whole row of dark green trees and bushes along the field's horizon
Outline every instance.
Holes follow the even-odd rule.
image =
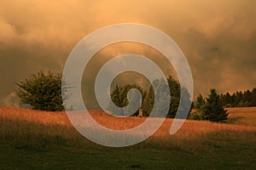
[[[111,91],[111,99],[113,102],[109,103],[108,110],[119,116],[127,116],[127,113],[130,110],[134,111],[134,108],[126,107],[124,109],[124,107],[128,105],[129,102],[133,102],[135,104],[134,107],[137,108],[137,110],[132,114],[130,113],[131,116],[138,115],[138,108],[143,109],[143,116],[150,116],[154,106],[154,111],[157,111],[158,113],[168,111],[167,117],[173,118],[179,114],[177,113],[177,108],[179,106],[181,95],[183,96],[183,102],[191,101],[188,90],[180,87],[179,82],[174,80],[171,76],[167,77],[166,80],[170,95],[166,95],[166,92],[161,90],[161,87],[166,83],[163,79],[154,80],[153,85],[156,89],[154,89],[152,85],[148,90],[145,90],[136,84],[125,84],[124,86],[116,85]],[[38,74],[34,74],[31,77],[16,83],[16,85],[18,87],[16,94],[20,97],[21,103],[30,105],[32,109],[41,111],[64,111],[61,95],[61,74],[55,74],[50,71],[40,71]],[[67,88],[70,87],[67,86],[66,89]],[[131,88],[136,88],[141,93],[142,99],[136,95],[131,95],[131,100],[128,101],[127,94]],[[211,89],[207,98],[203,98],[201,95],[197,97],[193,103],[193,107],[196,111],[190,113],[188,118],[211,122],[225,122],[228,113],[224,110],[224,107],[255,106],[255,97],[256,88],[253,88],[252,91],[247,90],[244,93],[237,92],[232,95],[229,93],[219,95],[215,89]],[[65,98],[67,99],[68,96]],[[171,103],[166,105],[168,99],[171,99]],[[155,103],[155,100],[158,102]],[[183,107],[183,105],[181,105],[181,107]],[[183,110],[183,108],[181,108],[181,110]]]

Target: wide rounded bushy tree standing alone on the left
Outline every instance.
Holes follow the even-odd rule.
[[[15,84],[18,87],[15,94],[20,97],[23,104],[30,105],[33,110],[64,110],[61,96],[61,74],[39,71],[38,74]]]

